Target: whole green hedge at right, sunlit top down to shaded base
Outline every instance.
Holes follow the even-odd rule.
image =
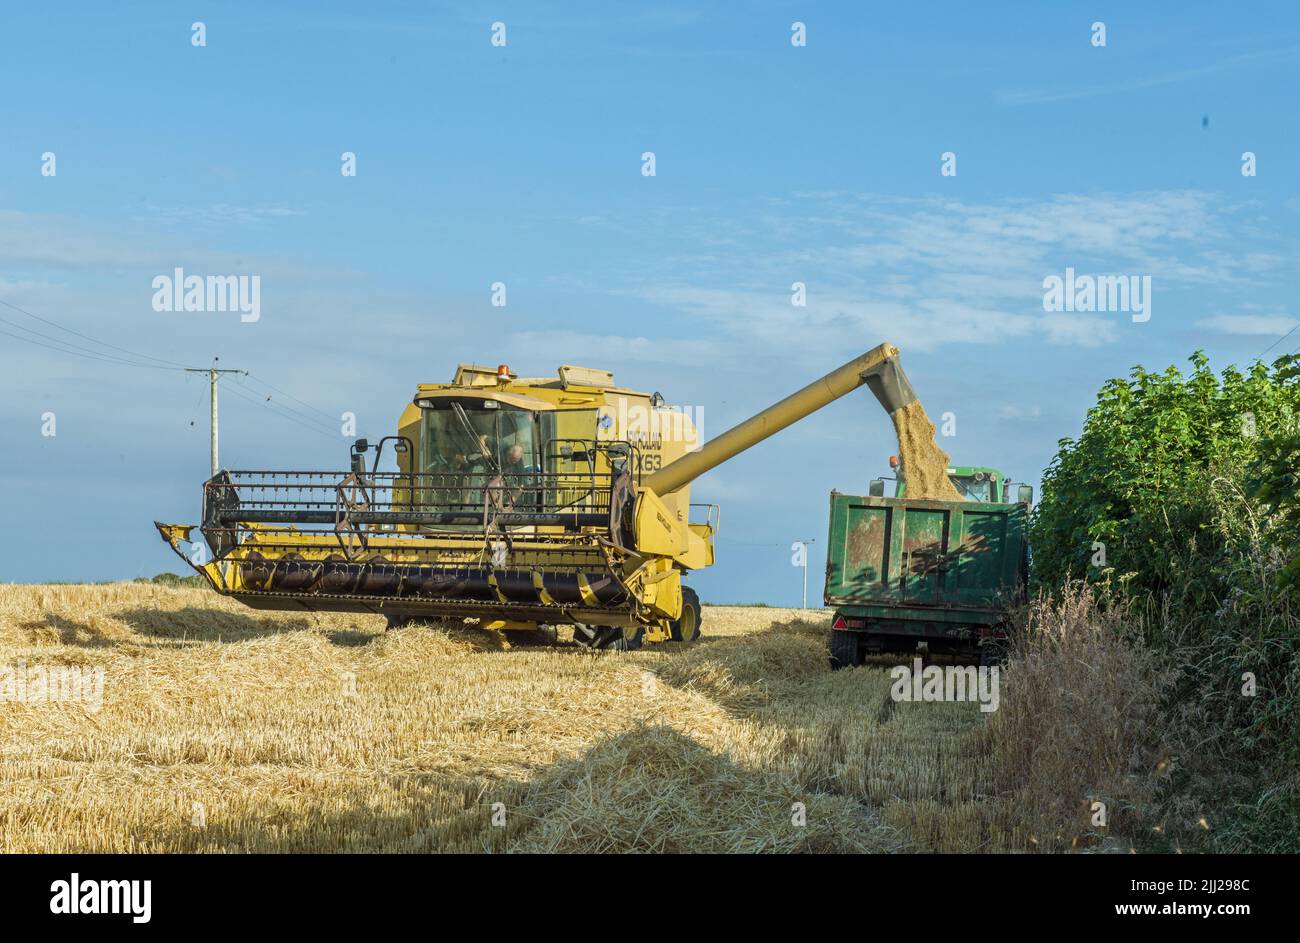
[[[1170,830],[1296,851],[1300,369],[1191,363],[1106,382],[1079,438],[1061,440],[1030,527],[1035,579],[1118,591],[1173,670]]]

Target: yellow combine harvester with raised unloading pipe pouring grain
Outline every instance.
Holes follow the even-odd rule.
[[[884,343],[701,446],[686,412],[606,371],[462,365],[416,390],[395,436],[359,440],[348,472],[212,477],[207,562],[182,549],[192,525],[156,525],[255,609],[568,624],[594,648],[692,641],[699,600],[681,578],[712,564],[718,507],[692,505],[690,483],[863,384],[888,412],[915,399]],[[398,471],[378,472],[389,442]]]

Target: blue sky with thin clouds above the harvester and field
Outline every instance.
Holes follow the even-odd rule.
[[[0,300],[251,371],[222,398],[228,467],[342,467],[334,418],[390,432],[463,360],[607,367],[707,437],[890,341],[956,415],[954,462],[1036,484],[1108,377],[1197,347],[1245,364],[1296,324],[1300,13],[1134,7],[6,9]],[[261,319],[153,311],[176,267],[260,274]],[[1150,320],[1044,312],[1067,267],[1150,276]],[[151,522],[198,516],[203,380],[0,336],[0,580],[176,568]],[[890,451],[863,393],[711,473],[702,596],[797,602],[789,545],[814,537],[818,597],[827,493]]]

